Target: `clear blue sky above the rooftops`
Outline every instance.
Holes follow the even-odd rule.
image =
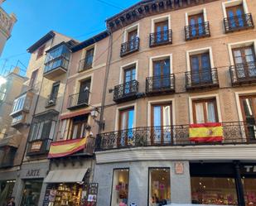
[[[84,41],[104,31],[108,17],[136,2],[139,0],[7,0],[2,3],[3,9],[14,12],[18,21],[0,57],[0,74],[17,65],[17,60],[27,66],[27,48],[48,31]],[[22,64],[19,66],[24,69]]]

